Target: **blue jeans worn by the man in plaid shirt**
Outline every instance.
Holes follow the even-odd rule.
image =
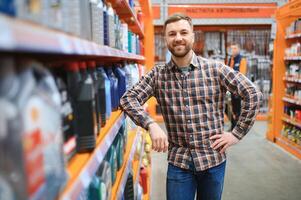
[[[168,164],[167,200],[221,200],[226,161],[222,164],[197,172],[193,164],[189,170]]]

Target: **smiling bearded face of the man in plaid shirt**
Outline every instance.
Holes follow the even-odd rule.
[[[168,50],[175,57],[184,57],[193,47],[194,33],[186,20],[167,24],[165,41]]]

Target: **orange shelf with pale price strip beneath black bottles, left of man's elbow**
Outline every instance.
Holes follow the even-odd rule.
[[[91,153],[77,154],[71,159],[67,167],[70,179],[59,199],[77,199],[79,194],[89,186],[124,119],[123,112],[113,112],[106,126],[101,129],[95,150]]]

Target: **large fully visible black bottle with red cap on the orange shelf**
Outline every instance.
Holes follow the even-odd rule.
[[[95,110],[95,91],[92,77],[87,73],[85,62],[79,63],[81,81],[78,85],[76,109],[78,133],[77,151],[92,151],[96,145],[97,123]]]

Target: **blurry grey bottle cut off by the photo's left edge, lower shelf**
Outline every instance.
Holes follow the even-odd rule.
[[[30,84],[28,80],[26,85]],[[26,176],[22,147],[21,114],[17,97],[20,80],[12,58],[0,60],[0,199],[14,200],[27,197]],[[21,92],[24,94],[24,92]],[[27,95],[26,95],[27,97]]]

